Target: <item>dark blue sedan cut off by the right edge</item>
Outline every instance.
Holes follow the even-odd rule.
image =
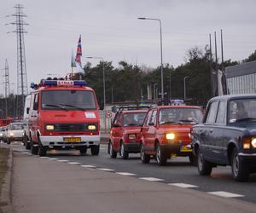
[[[201,176],[210,176],[218,165],[231,165],[236,181],[256,172],[255,109],[256,95],[224,95],[208,102],[202,124],[191,129]]]

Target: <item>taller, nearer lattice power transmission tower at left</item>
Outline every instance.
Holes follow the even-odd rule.
[[[15,22],[12,25],[16,26],[17,34],[17,96],[16,96],[16,116],[20,117],[23,114],[25,95],[28,93],[27,79],[26,79],[26,55],[24,34],[27,33],[24,26],[28,24],[24,22],[23,17],[27,17],[22,12],[23,6],[21,4],[15,5],[16,12],[12,14],[15,16]]]

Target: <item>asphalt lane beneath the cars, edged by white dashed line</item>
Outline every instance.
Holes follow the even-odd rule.
[[[11,146],[15,151],[28,152],[20,142],[12,143]],[[133,178],[146,178],[148,181],[160,181],[177,187],[190,187],[205,193],[216,193],[218,197],[232,197],[256,203],[256,174],[251,175],[248,182],[236,182],[232,180],[230,167],[213,168],[212,176],[199,176],[197,168],[189,164],[189,158],[172,158],[166,166],[157,165],[154,159],[151,159],[150,164],[142,164],[139,154],[130,154],[127,160],[119,156],[110,158],[105,144],[101,145],[99,156],[91,156],[89,149],[84,156],[80,156],[79,151],[52,150],[48,152],[47,157],[53,160],[77,162],[96,170],[121,173]]]

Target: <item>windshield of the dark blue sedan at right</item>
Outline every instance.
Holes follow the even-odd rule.
[[[230,123],[256,123],[256,99],[230,101]]]

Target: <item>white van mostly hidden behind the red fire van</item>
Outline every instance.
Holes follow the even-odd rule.
[[[31,103],[31,95],[27,95],[25,100],[24,113],[23,113],[24,130],[23,130],[23,138],[22,138],[23,145],[26,147],[26,149],[30,149],[30,146],[31,146],[29,141],[29,130],[28,130],[30,103]]]

